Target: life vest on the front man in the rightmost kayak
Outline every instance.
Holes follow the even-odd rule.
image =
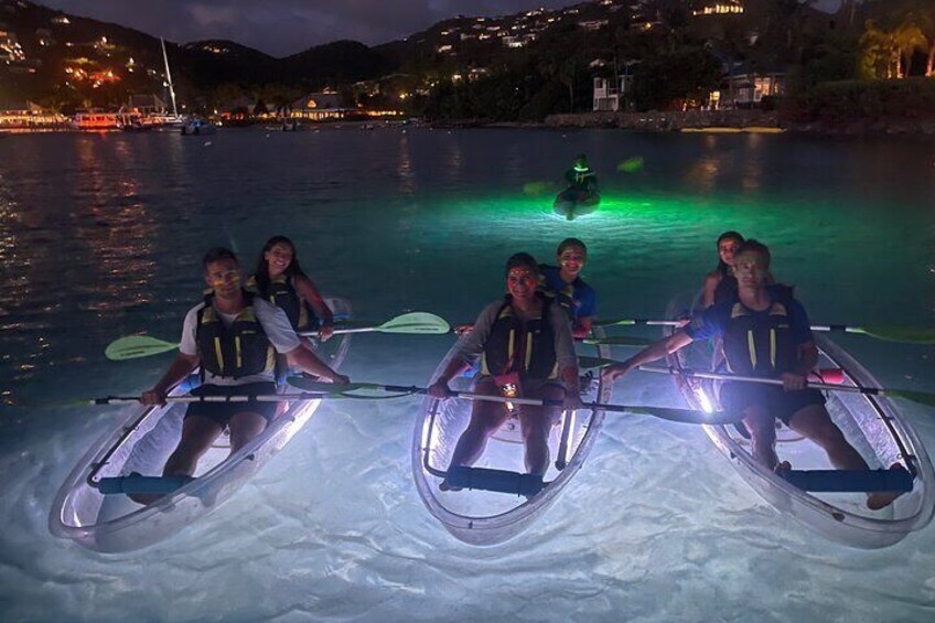
[[[770,287],[773,302],[767,313],[753,312],[734,300],[730,323],[723,334],[724,357],[730,372],[772,378],[795,368],[798,347],[792,335],[789,292],[782,286]]]

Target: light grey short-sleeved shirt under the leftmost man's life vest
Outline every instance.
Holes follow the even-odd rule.
[[[185,314],[185,323],[182,326],[182,341],[179,345],[179,352],[183,355],[198,356],[198,344],[195,339],[195,332],[197,331],[198,325],[198,311],[201,311],[204,305],[204,303],[195,305],[189,310],[189,313]],[[221,322],[224,323],[224,326],[230,326],[237,318],[236,314],[222,313],[217,310],[217,308],[214,308],[214,310],[217,311],[217,315],[221,318]],[[286,312],[280,308],[277,308],[257,297],[254,299],[254,312],[257,314],[257,320],[264,327],[267,339],[278,353],[288,353],[301,345],[299,336],[295,335],[295,331],[292,329],[292,325],[289,324],[289,318],[287,318]],[[214,376],[209,372],[205,370],[204,383],[205,385],[235,386],[269,380],[276,380],[275,370],[267,370],[260,374],[252,374],[250,376],[241,376],[240,378]]]

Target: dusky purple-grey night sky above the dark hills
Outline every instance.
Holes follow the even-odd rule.
[[[818,6],[837,7],[839,0]],[[133,28],[175,43],[227,39],[272,56],[351,39],[375,45],[463,15],[503,15],[576,0],[44,0],[67,13]]]

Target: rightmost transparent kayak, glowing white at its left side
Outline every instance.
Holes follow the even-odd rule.
[[[674,304],[669,311],[680,309],[684,308]],[[840,385],[880,387],[862,365],[827,336],[815,335],[815,343],[820,352],[818,368],[840,370]],[[718,357],[709,343],[696,342],[669,356],[668,363],[680,368],[710,370]],[[720,409],[719,382],[674,378],[691,408]],[[834,541],[875,549],[896,544],[911,531],[927,526],[935,511],[935,472],[918,436],[896,405],[883,396],[857,393],[828,391],[826,398],[831,419],[875,471],[873,475],[834,471],[824,450],[778,420],[776,452],[780,461],[792,464],[792,470],[782,476],[753,460],[742,427],[706,425],[703,429],[763,500]],[[869,479],[881,473],[888,482],[893,482],[890,476],[894,474],[884,471],[894,464],[909,472],[902,472],[905,479],[900,484],[911,491],[880,511],[870,511],[866,505],[867,488],[861,486],[866,487]]]

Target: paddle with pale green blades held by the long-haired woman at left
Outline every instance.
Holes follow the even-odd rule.
[[[348,323],[350,324],[350,323]],[[359,324],[357,322],[354,323]],[[346,326],[335,323],[335,334],[344,333],[400,333],[406,335],[440,335],[451,331],[448,322],[428,312],[410,312],[393,318],[383,324]],[[300,331],[299,335],[318,335],[318,331]],[[178,342],[166,342],[149,335],[127,335],[111,342],[104,354],[111,361],[149,357],[179,347]]]

